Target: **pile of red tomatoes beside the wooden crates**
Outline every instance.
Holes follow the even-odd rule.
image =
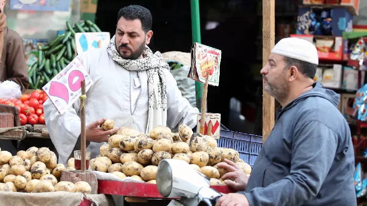
[[[30,95],[23,94],[20,99],[0,99],[0,104],[15,106],[19,110],[21,125],[46,124],[43,103],[48,99],[42,90]]]

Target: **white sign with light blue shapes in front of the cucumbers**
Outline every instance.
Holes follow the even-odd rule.
[[[75,33],[76,52],[82,54],[90,49],[97,49],[98,42],[101,42],[101,47],[108,46],[110,40],[109,32]]]

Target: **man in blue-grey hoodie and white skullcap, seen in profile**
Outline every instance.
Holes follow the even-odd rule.
[[[237,193],[216,206],[357,206],[349,126],[338,111],[340,95],[313,78],[315,46],[286,38],[273,48],[261,74],[281,106],[249,179],[226,161],[226,184]],[[227,180],[231,179],[231,180]]]

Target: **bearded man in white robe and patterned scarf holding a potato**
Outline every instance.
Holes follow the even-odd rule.
[[[160,52],[147,44],[152,38],[152,15],[142,6],[130,5],[117,15],[115,36],[104,48],[87,51],[78,58],[93,80],[86,100],[86,139],[91,158],[108,142],[120,126],[149,133],[157,126],[177,131],[180,124],[196,127],[199,110],[181,95],[168,64]],[[44,103],[46,126],[66,164],[80,146],[80,103],[77,101],[62,115],[47,100]],[[103,131],[98,125],[113,119],[115,128]]]

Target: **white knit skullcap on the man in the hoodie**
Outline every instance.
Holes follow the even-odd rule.
[[[319,64],[317,49],[310,41],[298,38],[284,38],[275,44],[272,52],[303,62]]]

